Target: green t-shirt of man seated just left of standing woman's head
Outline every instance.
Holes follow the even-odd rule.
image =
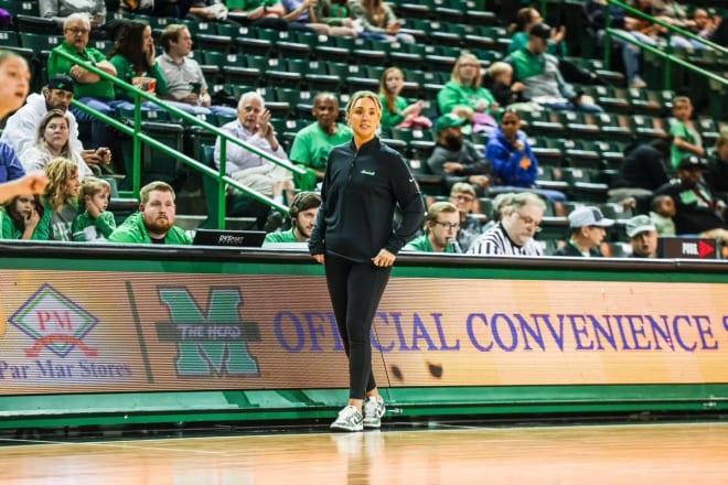
[[[336,123],[336,127],[334,134],[324,132],[318,122],[302,128],[293,139],[288,158],[296,163],[323,172],[331,149],[352,139],[351,128],[344,123]]]

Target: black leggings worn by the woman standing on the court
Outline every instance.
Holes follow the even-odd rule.
[[[376,387],[372,374],[372,322],[392,267],[326,255],[326,285],[339,334],[349,357],[349,398],[364,399]]]

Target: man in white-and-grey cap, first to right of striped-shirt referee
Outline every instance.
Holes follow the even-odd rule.
[[[571,235],[566,246],[558,248],[554,256],[601,257],[599,246],[607,236],[607,227],[614,224],[601,214],[598,207],[584,206],[571,211],[569,227]]]

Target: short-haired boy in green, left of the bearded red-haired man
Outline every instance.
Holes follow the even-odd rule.
[[[78,201],[85,206],[85,211],[73,222],[73,240],[98,242],[106,238],[116,229],[116,219],[114,213],[107,211],[109,197],[111,196],[111,185],[94,176],[84,179],[81,184]]]

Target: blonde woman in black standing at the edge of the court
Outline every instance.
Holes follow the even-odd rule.
[[[322,204],[309,240],[309,252],[325,267],[349,357],[349,405],[331,424],[342,431],[381,425],[385,406],[372,374],[372,322],[397,252],[425,217],[422,196],[407,163],[376,136],[381,119],[382,103],[375,93],[351,97],[346,121],[354,137],[329,154]],[[402,223],[395,227],[397,204]]]

